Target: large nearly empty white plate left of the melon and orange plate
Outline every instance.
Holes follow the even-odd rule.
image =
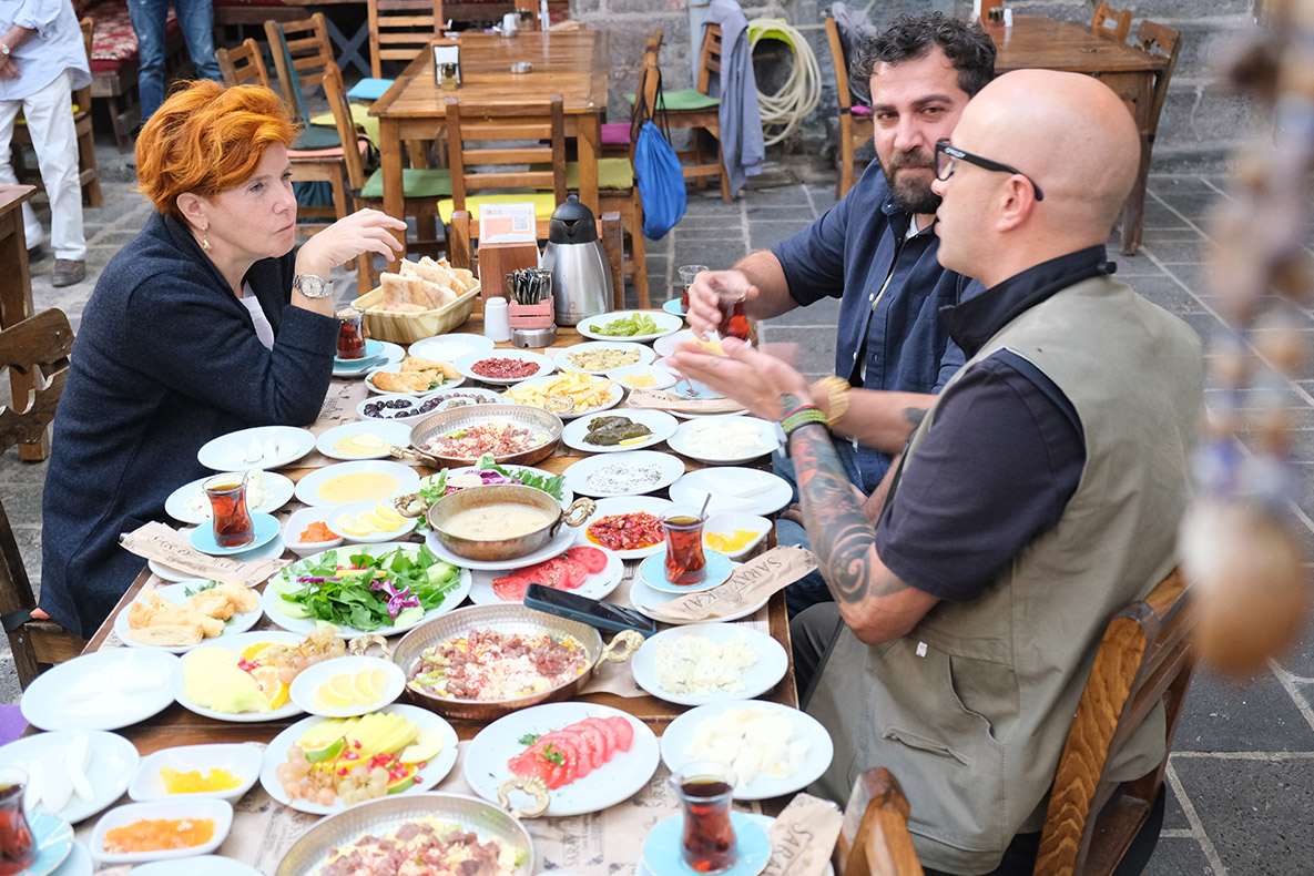
[[[57,663],[22,692],[22,717],[42,730],[117,730],[173,701],[172,654],[112,647]]]

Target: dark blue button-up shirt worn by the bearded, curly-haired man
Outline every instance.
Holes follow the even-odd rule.
[[[872,162],[825,215],[771,248],[800,306],[841,299],[834,373],[854,386],[937,393],[964,362],[940,309],[975,296],[982,285],[941,267],[933,230],[905,240],[911,222]],[[857,456],[870,491],[890,457],[862,445]]]

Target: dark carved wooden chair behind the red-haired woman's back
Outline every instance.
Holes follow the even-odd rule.
[[[14,444],[41,441],[55,419],[55,407],[68,377],[68,351],[74,331],[60,310],[43,310],[35,317],[0,331],[0,365],[29,374],[35,389],[28,393],[26,410],[0,408],[0,453]],[[24,569],[9,517],[0,504],[0,620],[4,621],[13,650],[18,684],[26,688],[53,665],[78,657],[87,646],[80,636],[50,620],[32,619],[37,600]]]

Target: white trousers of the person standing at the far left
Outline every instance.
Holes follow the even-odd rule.
[[[13,123],[18,110],[28,120],[32,146],[37,152],[41,181],[50,198],[50,246],[57,259],[87,257],[87,236],[81,225],[81,186],[78,184],[78,131],[74,129],[72,91],[68,72],[22,100],[0,100],[0,184],[17,184],[11,150]],[[22,227],[28,248],[41,243],[41,223],[30,204],[22,205]]]

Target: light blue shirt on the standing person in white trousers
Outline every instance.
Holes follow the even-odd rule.
[[[81,26],[68,0],[0,0],[0,39],[14,25],[37,33],[13,50],[20,76],[0,79],[0,100],[29,97],[66,70],[70,88],[91,84]]]

